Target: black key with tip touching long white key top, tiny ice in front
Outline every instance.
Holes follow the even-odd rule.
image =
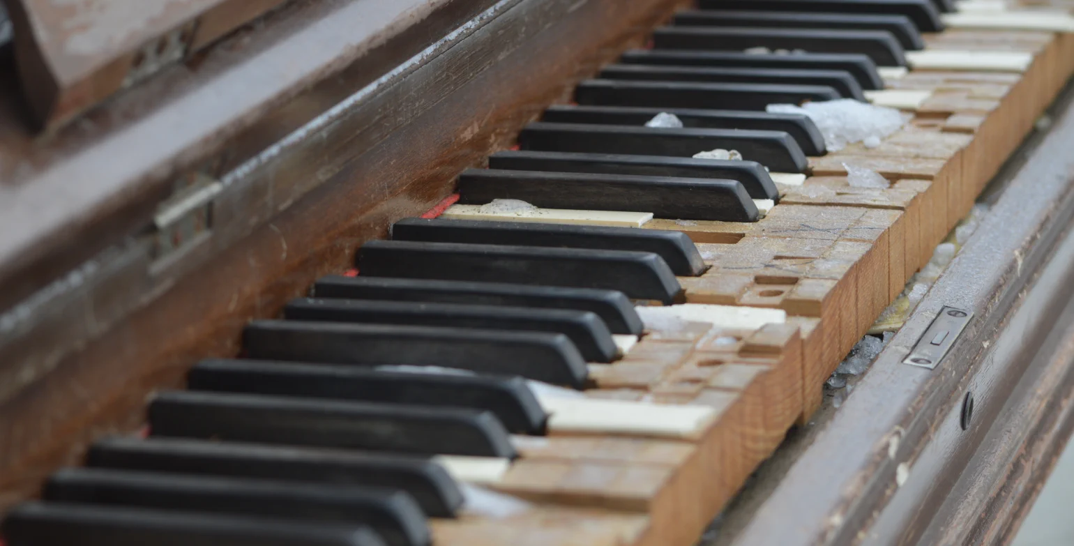
[[[653,32],[656,49],[722,49],[752,47],[817,53],[861,53],[882,67],[904,67],[902,45],[886,30],[810,28],[663,27]]]

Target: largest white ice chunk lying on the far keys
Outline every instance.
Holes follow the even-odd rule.
[[[898,131],[909,119],[898,110],[877,106],[854,99],[807,102],[804,105],[769,104],[772,113],[804,114],[813,119],[828,152],[838,152],[847,144],[862,142],[880,145],[881,141]]]

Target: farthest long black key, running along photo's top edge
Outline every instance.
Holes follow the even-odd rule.
[[[945,0],[946,1],[946,0]],[[822,12],[905,15],[921,32],[940,32],[943,23],[932,0],[698,0],[701,10]]]

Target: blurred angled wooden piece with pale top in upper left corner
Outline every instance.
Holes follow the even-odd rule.
[[[8,0],[33,121],[54,129],[285,0]]]

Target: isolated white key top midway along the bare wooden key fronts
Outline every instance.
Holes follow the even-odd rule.
[[[636,308],[647,330],[674,330],[686,322],[709,322],[722,328],[756,330],[765,325],[782,325],[787,321],[787,312],[767,307],[683,303]]]

